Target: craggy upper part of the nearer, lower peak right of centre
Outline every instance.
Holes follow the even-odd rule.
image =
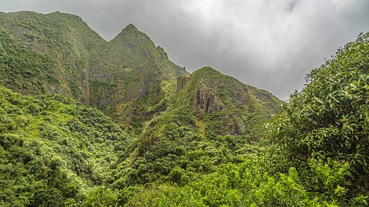
[[[269,92],[204,67],[177,81],[177,106],[190,106],[209,136],[251,134],[280,111],[283,101]],[[212,133],[212,134],[209,134]]]

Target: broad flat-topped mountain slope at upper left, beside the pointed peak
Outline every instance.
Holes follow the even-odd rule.
[[[106,40],[75,15],[0,13],[0,84],[24,94],[61,93],[88,103],[89,65]],[[1,48],[0,47],[0,48]]]

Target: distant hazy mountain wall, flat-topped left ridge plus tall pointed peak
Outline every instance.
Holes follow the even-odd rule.
[[[81,18],[60,12],[0,13],[0,27],[1,85],[76,98],[126,127],[148,120],[132,114],[159,102],[167,81],[189,75],[132,24],[110,42]]]

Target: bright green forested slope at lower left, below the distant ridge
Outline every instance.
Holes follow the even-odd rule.
[[[126,135],[106,116],[62,96],[0,87],[0,205],[83,200],[123,156]]]

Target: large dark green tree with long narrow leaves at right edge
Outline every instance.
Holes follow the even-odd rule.
[[[310,83],[268,126],[268,136],[296,167],[304,168],[311,158],[350,164],[350,193],[369,190],[368,57],[369,33],[311,71]]]

